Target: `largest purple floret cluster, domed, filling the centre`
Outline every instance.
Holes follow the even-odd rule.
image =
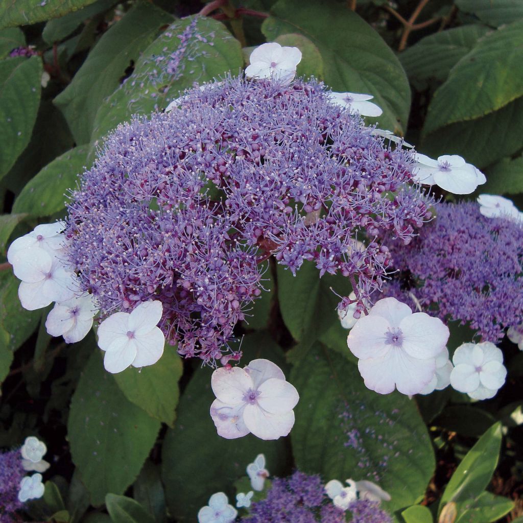
[[[350,277],[361,314],[391,264],[378,235],[408,243],[430,219],[413,165],[322,84],[228,77],[107,138],[72,194],[67,256],[103,317],[160,300],[166,339],[214,365],[270,256]]]

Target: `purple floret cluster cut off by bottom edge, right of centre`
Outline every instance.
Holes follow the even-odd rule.
[[[391,523],[390,516],[378,503],[357,499],[347,512],[334,506],[325,493],[319,475],[294,472],[287,478],[276,478],[267,497],[253,502],[249,523]]]

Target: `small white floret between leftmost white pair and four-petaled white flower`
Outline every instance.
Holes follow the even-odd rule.
[[[97,312],[92,294],[56,303],[47,316],[47,332],[51,336],[63,336],[66,343],[79,342],[89,333]]]

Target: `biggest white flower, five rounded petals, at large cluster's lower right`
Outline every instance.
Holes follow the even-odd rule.
[[[448,327],[395,298],[379,300],[351,329],[347,345],[368,389],[417,394],[433,379]]]

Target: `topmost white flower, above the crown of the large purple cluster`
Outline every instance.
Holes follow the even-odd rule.
[[[297,47],[281,47],[279,43],[261,44],[249,56],[245,69],[248,78],[272,78],[289,85],[301,62],[301,51]]]

